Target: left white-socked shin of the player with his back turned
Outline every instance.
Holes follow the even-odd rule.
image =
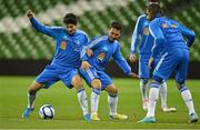
[[[149,107],[147,117],[154,117],[156,106],[159,98],[159,87],[158,82],[150,83],[150,91],[149,91]]]

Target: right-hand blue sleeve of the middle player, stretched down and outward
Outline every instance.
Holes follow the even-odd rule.
[[[127,60],[122,57],[122,54],[120,52],[120,46],[119,44],[118,44],[117,50],[113,53],[112,58],[127,76],[132,74],[130,66],[128,64]]]

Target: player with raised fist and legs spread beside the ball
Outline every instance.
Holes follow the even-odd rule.
[[[82,47],[88,43],[88,36],[86,32],[77,29],[77,16],[67,13],[63,18],[66,27],[44,26],[34,18],[31,10],[27,11],[27,17],[37,31],[56,40],[56,52],[52,62],[31,83],[28,92],[28,107],[22,113],[22,118],[28,118],[33,111],[36,94],[40,89],[48,89],[54,82],[61,80],[69,89],[77,89],[83,118],[87,121],[90,120],[87,94],[78,73],[80,53]]]

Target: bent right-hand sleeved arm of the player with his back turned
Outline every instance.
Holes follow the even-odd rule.
[[[196,33],[193,30],[190,30],[189,28],[184,27],[184,26],[181,26],[179,24],[180,27],[180,30],[181,30],[181,33],[187,37],[187,46],[188,47],[191,47],[194,42],[194,39],[196,39]]]

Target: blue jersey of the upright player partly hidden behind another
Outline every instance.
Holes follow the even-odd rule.
[[[138,48],[139,46],[139,48]],[[141,14],[134,26],[131,38],[131,53],[136,53],[138,48],[139,54],[151,54],[153,37],[149,33],[149,20],[146,14]]]

